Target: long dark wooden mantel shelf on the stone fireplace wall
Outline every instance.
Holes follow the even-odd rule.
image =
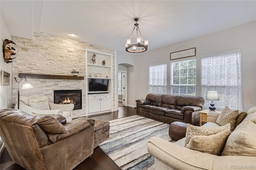
[[[84,76],[61,76],[50,74],[26,74],[19,73],[19,78],[25,76],[26,78],[41,78],[41,79],[67,79],[67,80],[84,80]]]

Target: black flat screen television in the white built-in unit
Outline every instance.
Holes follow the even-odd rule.
[[[108,93],[108,79],[89,78],[88,93]]]

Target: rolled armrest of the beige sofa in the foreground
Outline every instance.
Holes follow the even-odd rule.
[[[216,155],[191,150],[158,137],[150,138],[147,148],[148,153],[157,160],[156,167],[160,167],[161,165],[158,164],[161,163],[177,170],[212,170],[216,158]]]

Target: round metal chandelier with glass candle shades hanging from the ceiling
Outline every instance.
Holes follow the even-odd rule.
[[[126,44],[125,44],[125,50],[127,52],[138,53],[138,52],[144,52],[144,51],[148,50],[148,40],[143,40],[142,35],[140,33],[140,29],[138,27],[139,24],[137,23],[138,20],[139,20],[139,18],[134,18],[134,21],[136,23],[134,24],[134,28],[132,30],[132,34],[133,34],[133,32],[136,28],[137,44],[131,44],[131,37],[132,37],[132,34],[131,34],[130,38],[127,39]],[[140,36],[138,33],[140,34]],[[141,42],[143,42],[143,44]]]

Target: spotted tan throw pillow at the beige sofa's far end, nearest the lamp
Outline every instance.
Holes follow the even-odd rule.
[[[220,116],[216,120],[216,124],[223,126],[230,123],[230,132],[233,132],[236,124],[236,117],[238,115],[238,110],[231,110],[227,106],[223,109]]]

